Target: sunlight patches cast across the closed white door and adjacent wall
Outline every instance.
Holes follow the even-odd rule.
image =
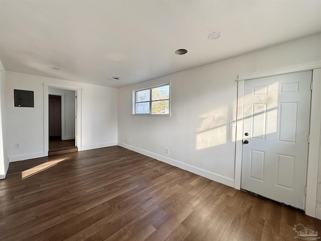
[[[267,89],[268,88],[268,89]],[[244,102],[244,132],[251,134],[252,139],[265,139],[267,134],[277,132],[277,101],[278,82],[268,86],[256,87],[250,93],[245,93]],[[255,92],[255,94],[253,93]],[[268,93],[268,94],[267,94]],[[237,100],[233,101],[236,108]],[[252,103],[252,104],[249,104]],[[236,114],[233,113],[234,119]],[[197,129],[196,150],[214,147],[227,143],[228,108],[222,106],[200,115],[202,119]],[[269,121],[269,125],[267,125]],[[233,135],[234,134],[234,135]],[[235,132],[231,134],[235,141]]]

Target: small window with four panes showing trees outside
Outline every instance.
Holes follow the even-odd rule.
[[[134,114],[170,114],[170,85],[134,91]]]

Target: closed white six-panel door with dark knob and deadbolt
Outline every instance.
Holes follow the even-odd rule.
[[[241,188],[304,209],[311,71],[245,81]]]

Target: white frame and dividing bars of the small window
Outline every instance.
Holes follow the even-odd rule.
[[[162,87],[162,86],[169,86],[169,98],[168,99],[157,99],[157,100],[152,100],[152,92],[151,90],[154,88]],[[136,93],[139,91],[143,90],[149,90],[149,100],[148,101],[141,101],[141,102],[136,102]],[[161,100],[168,100],[169,101],[169,113],[168,114],[153,114],[152,113],[152,102],[155,101],[161,101]],[[149,102],[149,113],[136,113],[136,103],[148,103]],[[143,116],[160,116],[160,117],[168,117],[171,116],[171,82],[166,82],[158,85],[153,85],[150,87],[145,87],[141,89],[135,89],[132,91],[132,115],[143,115]]]

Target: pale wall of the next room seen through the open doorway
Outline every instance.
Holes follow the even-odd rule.
[[[61,95],[62,96],[62,125],[61,127],[61,138],[62,140],[75,139],[75,91],[69,89],[59,89],[49,87],[49,94]]]

